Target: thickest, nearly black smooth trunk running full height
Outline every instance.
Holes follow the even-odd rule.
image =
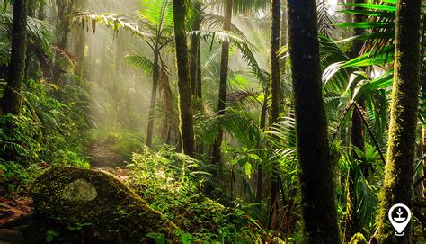
[[[288,0],[288,40],[301,167],[304,243],[340,243],[322,97],[315,0]]]

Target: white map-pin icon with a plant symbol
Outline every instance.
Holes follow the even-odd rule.
[[[391,207],[387,216],[396,230],[395,236],[404,236],[404,229],[407,227],[410,219],[412,218],[412,212],[410,212],[410,209],[403,203],[397,203]]]

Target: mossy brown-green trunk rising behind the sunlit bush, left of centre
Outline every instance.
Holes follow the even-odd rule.
[[[194,157],[194,125],[192,116],[191,80],[188,68],[188,47],[185,31],[185,0],[173,0],[174,43],[178,67],[179,111],[183,153]]]

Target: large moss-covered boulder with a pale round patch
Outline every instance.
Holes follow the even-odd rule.
[[[67,229],[82,229],[102,243],[144,243],[161,234],[175,242],[178,228],[151,209],[114,176],[77,167],[52,167],[32,189],[41,219]]]

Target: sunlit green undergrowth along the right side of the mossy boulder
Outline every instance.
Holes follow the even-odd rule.
[[[200,241],[251,242],[260,236],[257,221],[242,210],[228,208],[201,194],[204,177],[200,162],[169,147],[134,154],[128,183],[150,206],[178,225],[183,243]]]

